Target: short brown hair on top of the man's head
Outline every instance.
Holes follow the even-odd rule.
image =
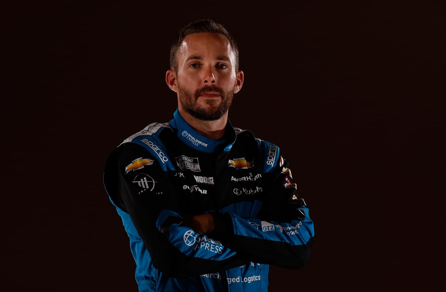
[[[229,44],[231,44],[231,48],[234,51],[235,55],[235,72],[239,70],[239,49],[237,47],[237,44],[235,43],[234,39],[231,37],[231,34],[228,33],[228,31],[224,28],[223,25],[220,25],[219,23],[216,23],[213,20],[205,19],[205,20],[198,20],[195,22],[192,22],[185,27],[183,27],[179,33],[175,41],[173,42],[172,46],[170,47],[170,69],[177,72],[178,70],[178,48],[180,47],[181,43],[183,42],[184,38],[192,33],[220,33],[225,36]]]

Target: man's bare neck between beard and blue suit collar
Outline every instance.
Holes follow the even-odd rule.
[[[192,127],[198,134],[210,139],[218,140],[223,137],[226,130],[227,112],[215,121],[203,121],[201,119],[194,118],[192,115],[184,111],[181,107],[178,107],[183,119]]]

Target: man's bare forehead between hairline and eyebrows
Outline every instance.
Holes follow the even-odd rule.
[[[220,33],[192,33],[187,35],[178,48],[178,60],[186,60],[191,55],[203,58],[226,56],[234,62],[234,52],[229,40]]]

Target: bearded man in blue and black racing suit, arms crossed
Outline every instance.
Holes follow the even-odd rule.
[[[267,291],[268,265],[301,268],[313,222],[275,144],[227,119],[243,85],[235,41],[214,21],[180,32],[178,109],[109,156],[104,185],[130,238],[140,291]]]

